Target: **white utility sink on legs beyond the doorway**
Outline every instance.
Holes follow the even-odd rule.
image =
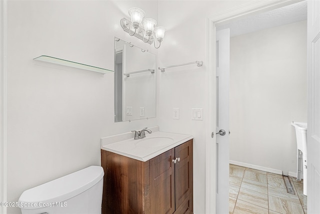
[[[296,172],[296,180],[301,180],[303,173],[303,194],[307,195],[307,142],[306,142],[306,131],[307,124],[292,122],[292,126],[295,128],[295,136],[296,136],[296,148],[297,148],[297,172]]]

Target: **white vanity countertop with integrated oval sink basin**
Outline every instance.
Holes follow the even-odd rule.
[[[133,132],[101,138],[101,149],[124,155],[140,161],[147,161],[171,148],[174,148],[193,137],[191,135],[158,131],[158,127],[150,128],[151,134],[145,132],[145,138],[134,140]],[[156,139],[168,140],[164,145],[152,145]],[[146,142],[146,143],[145,143]]]

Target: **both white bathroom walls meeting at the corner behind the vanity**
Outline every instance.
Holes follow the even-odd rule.
[[[159,124],[161,131],[191,134],[194,213],[205,211],[207,123],[206,17],[245,1],[9,1],[8,3],[8,201],[23,190],[88,165],[100,164],[103,136]],[[39,55],[113,70],[113,37],[129,37],[119,21],[131,7],[165,26],[159,66],[202,60],[158,73],[157,118],[114,123],[113,74],[34,65]],[[158,12],[158,15],[157,15]],[[153,51],[155,52],[155,51]],[[172,108],[180,119],[172,120]],[[203,108],[192,121],[191,108]],[[8,213],[18,213],[9,208]]]

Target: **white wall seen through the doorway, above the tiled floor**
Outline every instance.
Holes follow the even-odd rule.
[[[232,37],[230,160],[296,173],[306,114],[306,21]]]

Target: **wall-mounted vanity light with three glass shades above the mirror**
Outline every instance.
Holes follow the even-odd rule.
[[[130,8],[129,16],[131,21],[125,18],[120,20],[122,29],[130,36],[135,36],[144,43],[153,43],[154,48],[158,49],[163,41],[165,28],[155,27],[157,22],[152,18],[144,18],[145,13],[139,8]],[[159,43],[158,47],[155,46],[154,38]]]

